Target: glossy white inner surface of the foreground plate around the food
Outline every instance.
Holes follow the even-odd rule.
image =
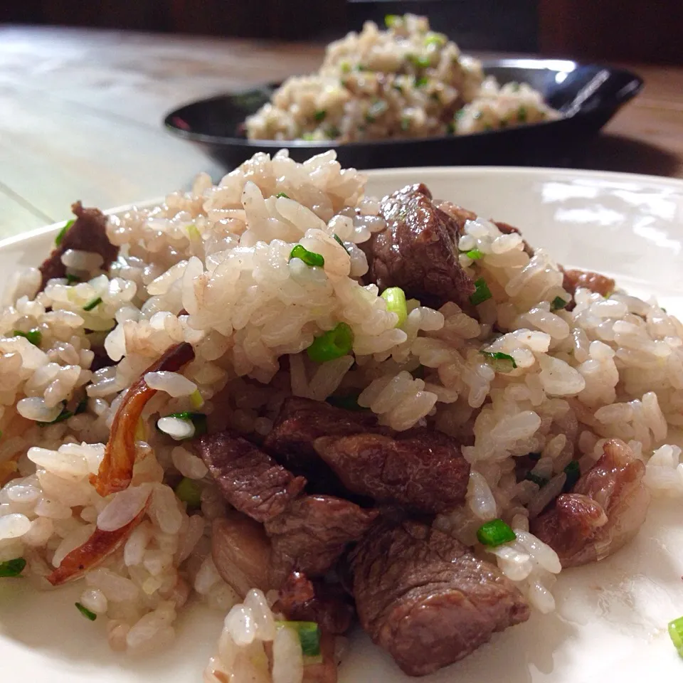
[[[435,197],[522,228],[560,263],[614,275],[640,296],[657,295],[683,312],[683,182],[650,176],[551,169],[397,169],[372,171],[369,193],[423,182]],[[57,227],[0,242],[4,278],[37,265]],[[683,504],[657,502],[637,539],[595,566],[562,573],[558,611],[534,614],[497,634],[466,660],[425,683],[620,683],[676,680],[683,674],[666,625],[683,615]],[[50,683],[189,683],[214,647],[221,615],[191,608],[171,650],[147,659],[107,648],[104,620],[90,623],[73,603],[78,586],[33,593],[0,580],[3,680]],[[340,683],[401,683],[390,658],[361,633],[352,636]]]

